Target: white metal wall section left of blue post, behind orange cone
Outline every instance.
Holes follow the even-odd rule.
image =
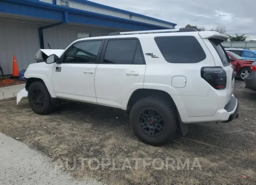
[[[13,55],[21,71],[35,62],[38,49],[37,24],[0,20],[0,66],[4,74],[13,73]]]

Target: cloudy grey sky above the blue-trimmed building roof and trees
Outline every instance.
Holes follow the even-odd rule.
[[[256,39],[256,0],[90,0],[176,23],[227,28],[229,35],[246,34]]]

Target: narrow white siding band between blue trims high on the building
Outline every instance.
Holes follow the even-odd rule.
[[[60,0],[57,0],[56,3],[57,3],[57,5],[60,5]],[[70,5],[69,6],[70,8],[76,8],[76,9],[99,13],[99,14],[104,14],[104,15],[111,15],[111,16],[120,17],[123,19],[130,19],[130,15],[126,14],[126,13],[116,12],[116,11],[108,10],[108,9],[104,9],[104,8],[98,8],[95,6],[90,6],[90,5],[86,5],[84,3],[79,3],[79,2],[75,2],[75,1],[71,1],[71,0],[69,0],[69,5]],[[142,18],[139,16],[132,16],[132,20],[149,23],[149,24],[155,24],[155,25],[164,26],[164,27],[171,27],[171,28],[173,27],[172,24],[153,21],[153,20],[145,19],[145,18]]]

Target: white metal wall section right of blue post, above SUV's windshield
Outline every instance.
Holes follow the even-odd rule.
[[[65,49],[70,43],[77,39],[77,33],[88,33],[91,37],[106,36],[108,30],[57,26],[43,30],[43,42],[45,49]],[[113,31],[114,32],[114,31]]]

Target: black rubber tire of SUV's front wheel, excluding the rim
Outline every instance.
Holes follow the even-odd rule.
[[[41,91],[41,95],[43,96],[43,105],[42,107],[36,106],[33,98],[32,98],[32,94],[34,92],[35,89],[38,89]],[[45,86],[45,84],[42,81],[35,81],[33,82],[29,88],[28,88],[28,102],[29,105],[31,107],[31,109],[37,113],[37,114],[49,114],[51,113],[55,106],[53,105],[52,101],[51,101],[51,97],[50,94],[47,90],[47,87]]]

